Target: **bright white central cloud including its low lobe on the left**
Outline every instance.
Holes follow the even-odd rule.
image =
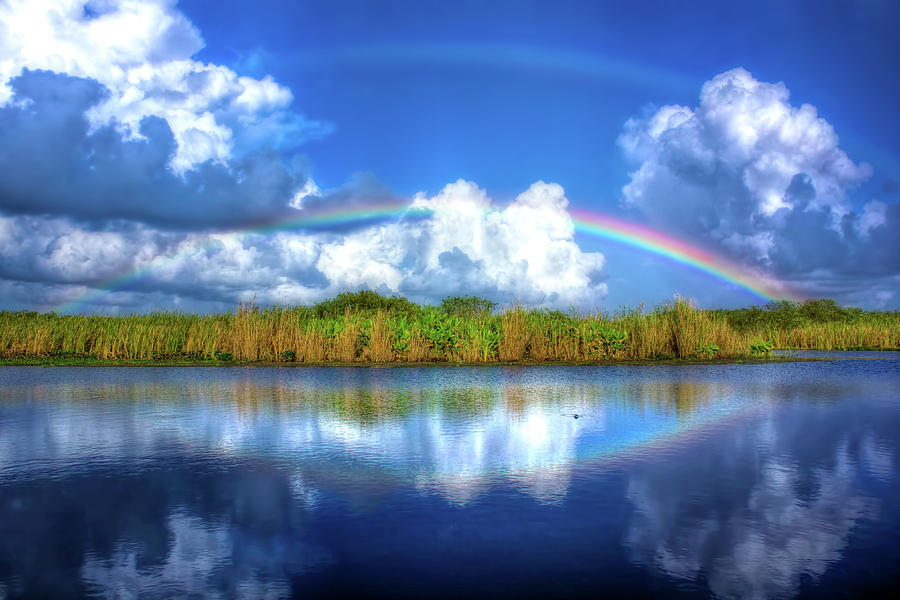
[[[432,216],[360,231],[324,244],[317,266],[345,287],[377,287],[420,299],[474,293],[500,301],[595,305],[603,256],[574,241],[562,187],[534,183],[495,207],[473,182],[459,180],[413,208]]]

